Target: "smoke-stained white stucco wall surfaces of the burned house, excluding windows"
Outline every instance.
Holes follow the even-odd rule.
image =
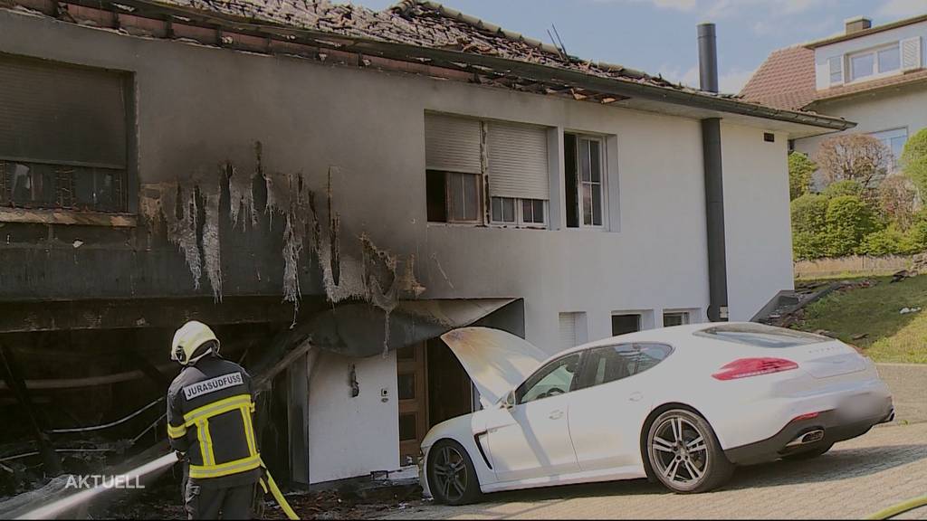
[[[696,309],[703,311],[699,318],[705,316],[705,188],[695,119],[130,38],[6,11],[0,24],[5,52],[133,71],[142,183],[197,169],[214,172],[225,160],[253,168],[256,140],[268,171],[305,172],[320,193],[335,165],[332,187],[343,237],[363,233],[381,248],[414,254],[416,276],[427,288],[423,299],[524,299],[527,339],[548,352],[556,349],[562,311],[586,313],[590,340],[610,336],[615,311],[643,311],[645,325],[654,326],[662,324],[663,309]],[[69,44],[47,44],[61,39]],[[605,134],[610,228],[429,224],[426,110]],[[749,318],[791,286],[786,139],[780,135],[776,144],[766,144],[762,131],[722,128],[735,319]],[[558,194],[552,205],[562,201]],[[563,219],[564,212],[552,215]],[[341,244],[343,259],[360,258],[359,244]],[[325,355],[317,363],[309,390],[311,481],[395,468],[395,358]],[[351,363],[361,386],[357,398],[350,397]],[[388,389],[387,402],[381,388]]]

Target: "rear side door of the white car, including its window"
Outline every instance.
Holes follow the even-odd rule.
[[[641,464],[641,426],[657,385],[645,371],[672,348],[662,344],[618,344],[590,349],[570,402],[569,429],[584,472]],[[671,382],[667,382],[671,385]]]

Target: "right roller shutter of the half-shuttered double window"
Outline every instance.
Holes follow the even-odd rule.
[[[549,199],[547,131],[513,123],[487,123],[489,195]]]

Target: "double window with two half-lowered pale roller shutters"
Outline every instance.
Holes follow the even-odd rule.
[[[547,130],[499,121],[425,115],[429,222],[546,227]],[[484,210],[483,174],[489,186]]]

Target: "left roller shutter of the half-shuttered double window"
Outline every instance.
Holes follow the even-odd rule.
[[[425,168],[482,173],[480,122],[425,114]]]

